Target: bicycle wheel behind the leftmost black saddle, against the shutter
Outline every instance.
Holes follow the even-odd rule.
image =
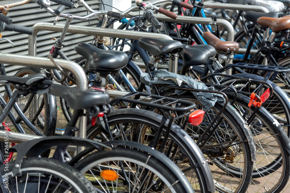
[[[14,76],[17,77],[24,77],[24,76],[29,76],[29,74],[35,74],[35,73],[41,73],[40,70],[38,68],[32,68],[32,67],[24,67],[22,69],[20,69],[19,71],[17,71],[17,73],[15,73]],[[13,90],[13,87],[11,87],[11,89]],[[36,94],[37,95],[37,94]],[[5,100],[8,100],[7,94],[5,94],[6,97]],[[55,127],[56,127],[56,120],[57,120],[57,109],[56,106],[54,106],[55,102],[55,96],[52,96],[48,93],[42,94],[42,95],[37,95],[36,99],[35,99],[35,104],[33,104],[33,100],[30,103],[31,107],[28,107],[28,110],[26,111],[25,115],[28,117],[28,119],[30,121],[32,121],[33,118],[33,113],[35,113],[35,111],[37,111],[38,109],[35,109],[37,107],[39,107],[41,104],[40,102],[40,98],[43,98],[44,101],[44,107],[43,110],[44,112],[40,112],[37,119],[35,120],[35,122],[33,122],[32,124],[38,128],[41,129],[43,134],[46,136],[51,136],[55,134]],[[28,98],[28,96],[23,97],[23,99],[25,100],[24,104],[22,105],[22,98],[18,99],[18,104],[19,106],[23,106],[26,105],[26,98]],[[34,97],[35,98],[35,97]],[[32,110],[32,108],[34,108],[34,110]],[[30,112],[32,111],[32,112]],[[18,117],[18,116],[16,116]],[[12,124],[12,123],[11,123]],[[23,125],[23,124],[22,124]],[[24,125],[23,125],[24,126]],[[30,134],[30,130],[28,127],[24,126],[26,128],[26,133]]]

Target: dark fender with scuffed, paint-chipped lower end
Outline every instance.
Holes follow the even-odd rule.
[[[228,109],[229,112],[233,113],[235,120],[240,124],[244,134],[247,137],[247,140],[250,146],[251,159],[253,162],[256,162],[257,150],[256,150],[255,140],[248,124],[245,122],[244,118],[240,115],[240,113],[236,109],[233,108],[233,106],[231,106],[230,104],[227,104],[226,109]],[[234,111],[232,109],[234,109]]]

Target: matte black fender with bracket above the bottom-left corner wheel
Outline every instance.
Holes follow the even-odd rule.
[[[9,152],[17,152],[17,157],[15,159],[14,167],[12,169],[12,176],[18,175],[20,173],[19,169],[21,168],[21,163],[25,156],[37,157],[42,152],[48,150],[52,146],[68,146],[68,145],[84,146],[104,151],[111,150],[110,147],[105,146],[99,142],[72,136],[41,137],[39,139],[25,141],[21,144],[17,144],[9,148]],[[8,161],[6,162],[6,164],[8,164]]]

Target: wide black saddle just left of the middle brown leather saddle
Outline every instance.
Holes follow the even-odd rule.
[[[215,56],[215,48],[211,45],[185,45],[180,52],[184,66],[196,66],[206,63],[208,58]]]

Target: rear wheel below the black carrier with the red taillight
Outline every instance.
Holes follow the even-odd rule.
[[[142,128],[142,130],[155,131],[159,128],[161,119],[161,115],[142,109],[118,109],[107,115],[110,129],[112,132],[115,131],[113,134],[115,140],[123,139],[122,135],[118,134],[116,128],[122,128],[125,130],[125,133],[130,140],[132,135],[136,136],[136,134],[131,133],[131,131],[134,130],[133,128]],[[167,124],[168,121],[163,127],[163,133],[166,132]],[[177,164],[182,172],[184,172],[196,192],[208,192],[206,188],[204,189],[204,185],[207,184],[207,178],[204,177],[202,168],[198,167],[197,158],[192,154],[192,148],[186,145],[185,137],[181,137],[179,135],[177,136],[177,134],[175,134],[178,129],[180,128],[176,124],[173,124],[163,153],[167,152],[170,148],[169,146],[171,142],[173,142],[172,151],[176,150],[176,156],[171,157],[171,159]],[[96,140],[98,138],[97,135],[100,132],[101,130],[96,126],[91,127],[87,130],[87,138]],[[184,133],[184,136],[185,135],[186,133]],[[148,135],[148,137],[153,136]]]

